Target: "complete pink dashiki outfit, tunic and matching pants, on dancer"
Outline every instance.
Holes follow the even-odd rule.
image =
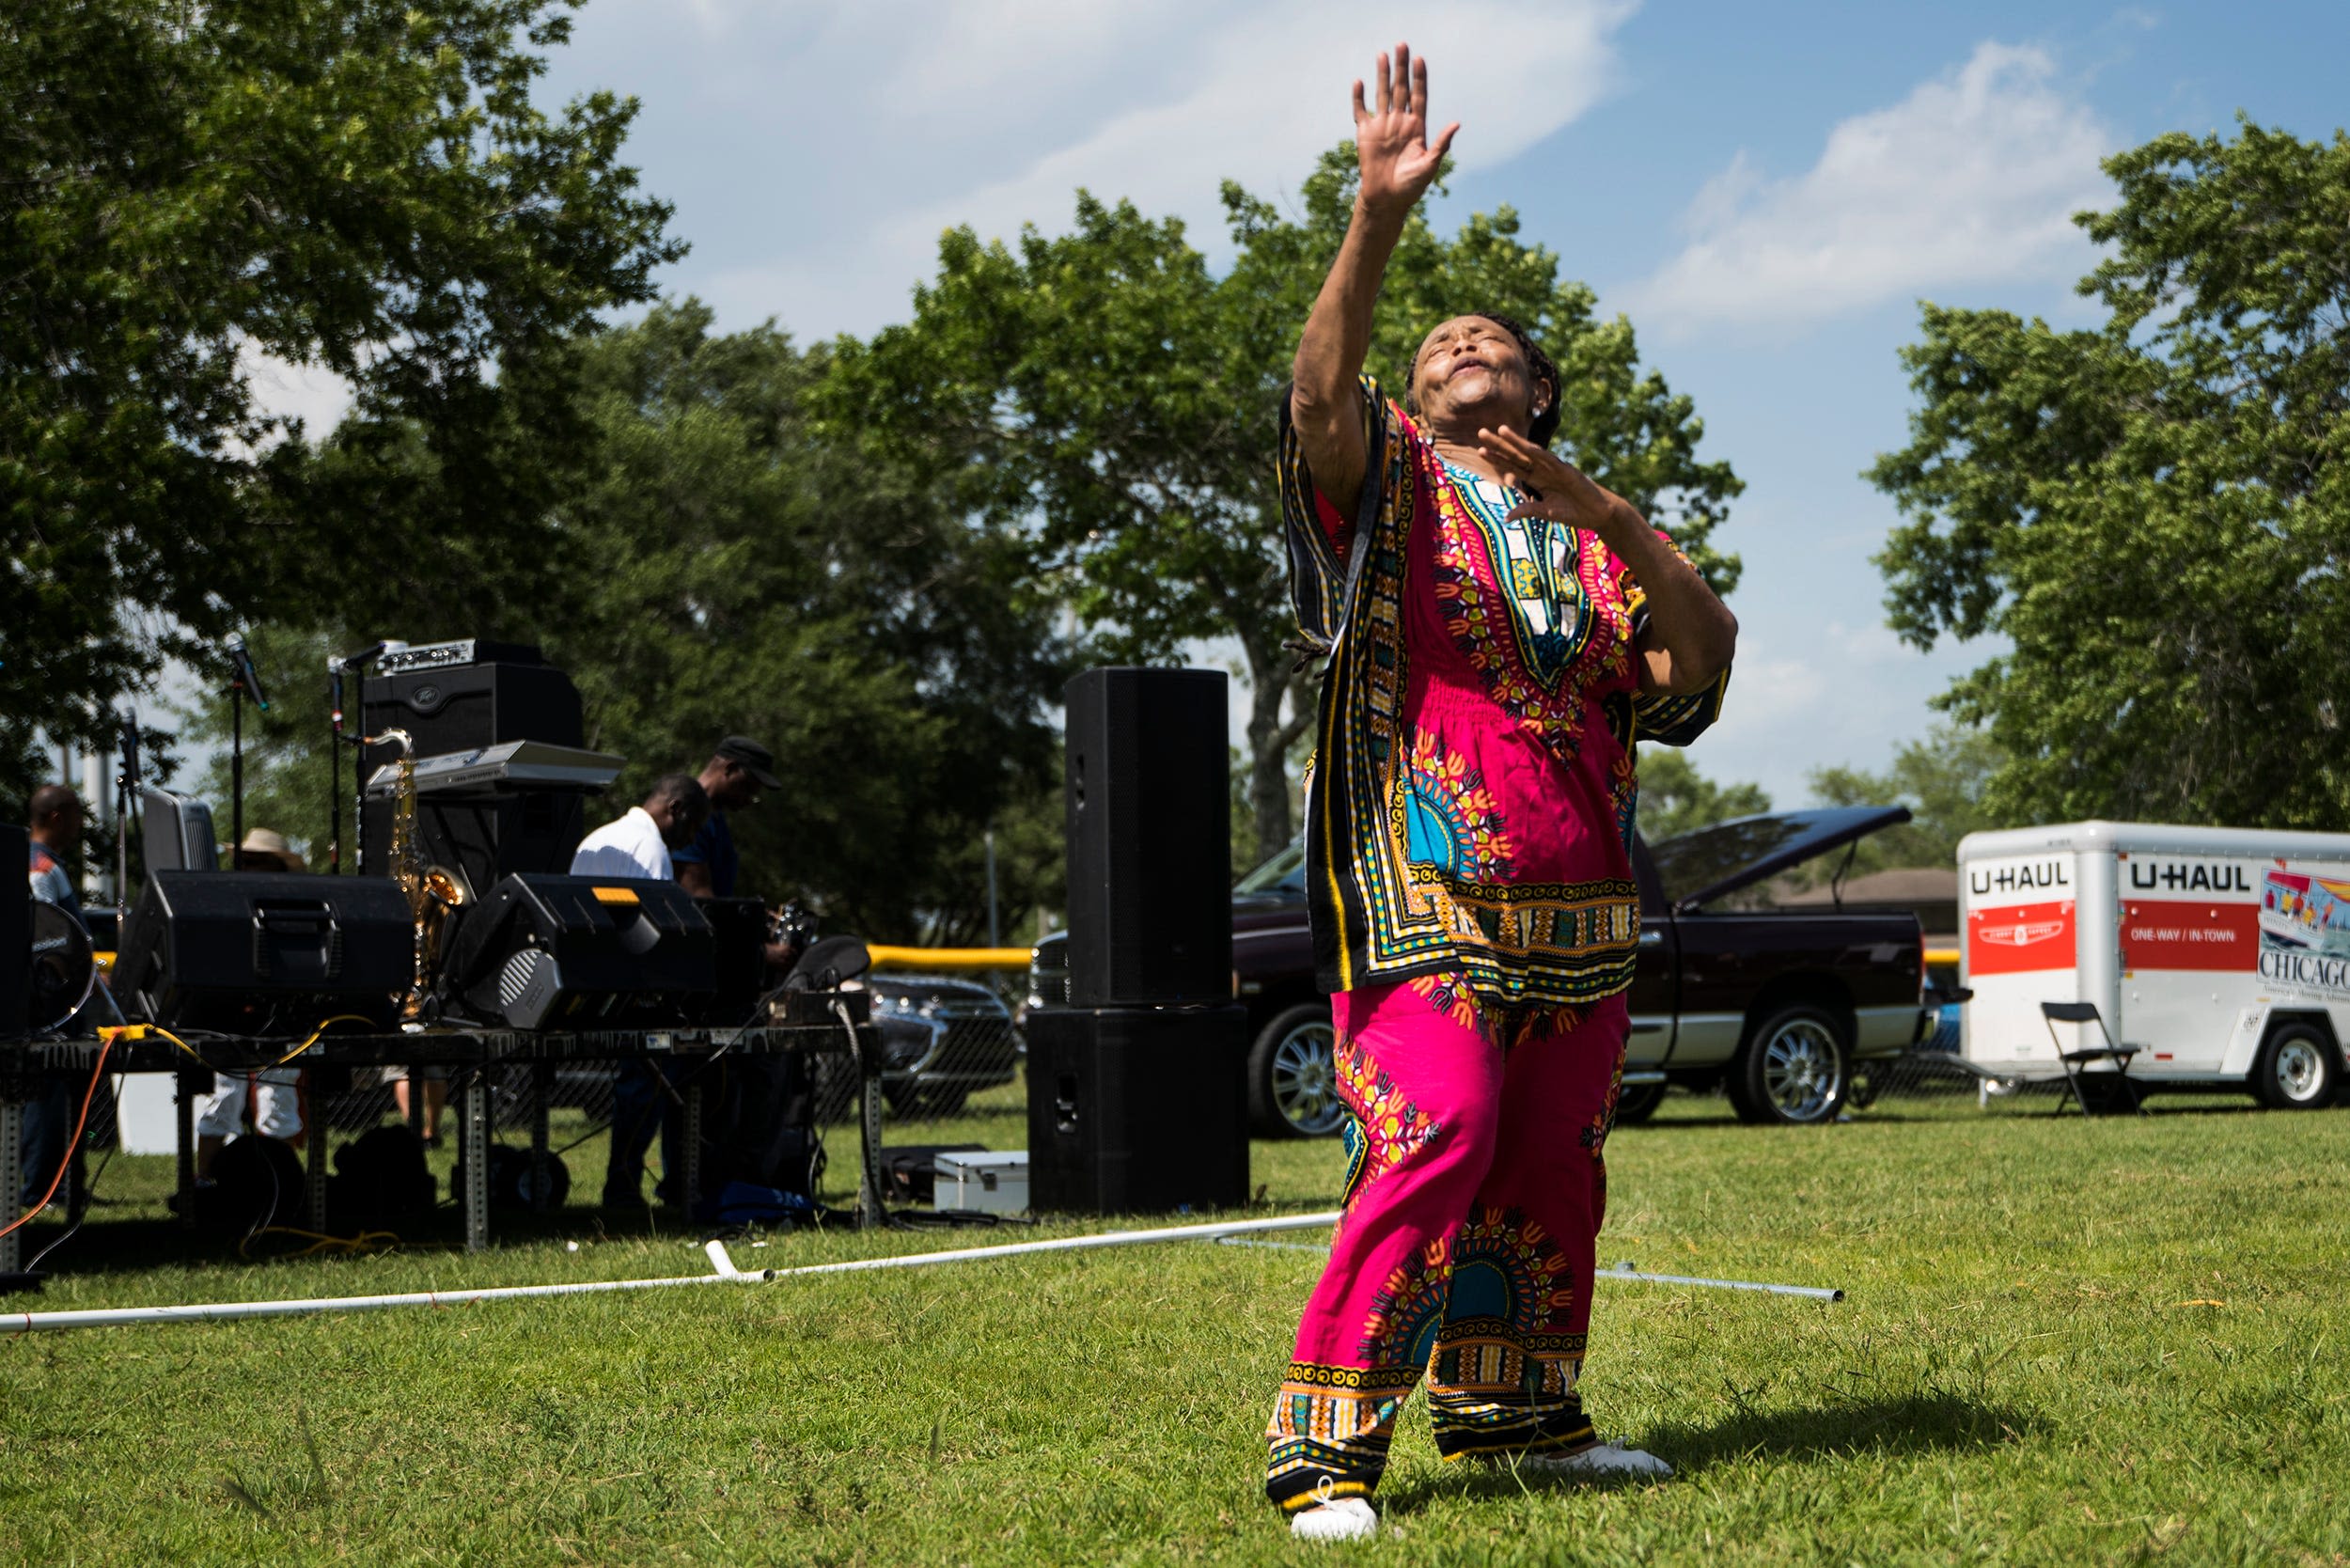
[[[1332,992],[1344,1220],[1267,1439],[1290,1512],[1365,1495],[1429,1380],[1445,1458],[1591,1441],[1574,1380],[1624,1067],[1633,743],[1720,712],[1640,696],[1645,595],[1596,536],[1509,522],[1363,378],[1340,517],[1283,407],[1297,621],[1328,644],[1307,889]]]

